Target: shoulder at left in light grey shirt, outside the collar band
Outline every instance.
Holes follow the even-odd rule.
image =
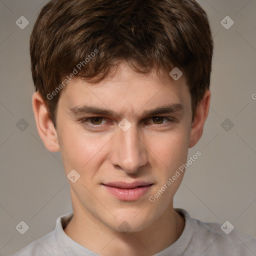
[[[12,256],[57,256],[65,255],[65,252],[62,251],[61,247],[58,245],[55,231],[44,235],[43,237],[29,243],[23,249],[19,250]]]

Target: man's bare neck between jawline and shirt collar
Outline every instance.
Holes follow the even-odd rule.
[[[74,205],[73,217],[64,232],[75,242],[99,255],[152,255],[174,243],[184,228],[184,219],[173,210],[172,203],[149,226],[127,233],[109,228],[81,205]]]

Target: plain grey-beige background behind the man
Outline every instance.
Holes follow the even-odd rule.
[[[211,108],[202,138],[189,149],[189,156],[197,150],[201,156],[186,170],[174,206],[203,221],[228,220],[256,236],[256,1],[198,2],[214,35]],[[0,0],[0,255],[45,235],[72,210],[60,154],[43,146],[31,107],[28,42],[45,3]],[[29,21],[24,29],[15,24],[22,15]],[[226,15],[234,21],[229,29],[220,23]],[[23,235],[15,229],[21,220],[29,226]]]

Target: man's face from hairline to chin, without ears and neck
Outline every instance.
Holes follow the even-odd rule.
[[[65,173],[80,175],[68,180],[74,211],[137,231],[172,205],[183,173],[171,177],[186,162],[191,129],[183,76],[139,74],[123,63],[97,84],[72,79],[56,116]]]

